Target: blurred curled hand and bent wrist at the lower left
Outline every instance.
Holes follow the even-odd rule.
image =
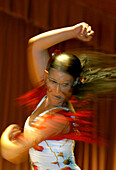
[[[1,155],[4,159],[15,164],[23,162],[28,152],[23,137],[22,139],[21,137],[17,137],[20,133],[20,127],[12,124],[1,135]]]

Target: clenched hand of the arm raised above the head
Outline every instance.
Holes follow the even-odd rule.
[[[87,23],[82,22],[73,26],[75,38],[82,41],[90,41],[94,35],[94,31]]]

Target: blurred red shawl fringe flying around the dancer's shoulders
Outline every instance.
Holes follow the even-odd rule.
[[[35,109],[36,105],[41,101],[41,99],[46,95],[46,86],[41,82],[42,85],[34,90],[28,92],[24,96],[18,98],[19,105],[29,106],[30,109]],[[73,104],[80,105],[79,101],[72,97],[71,102]],[[84,100],[83,103],[88,102]],[[80,106],[79,106],[80,107]],[[53,140],[61,140],[61,139],[72,139],[77,141],[83,141],[88,143],[102,143],[106,144],[105,140],[98,136],[98,132],[95,129],[95,124],[93,123],[94,112],[89,110],[77,110],[76,112],[69,112],[64,109],[58,111],[59,114],[64,115],[71,124],[71,131],[66,135],[59,135],[58,137],[52,138]],[[49,117],[53,119],[53,117]],[[59,119],[57,121],[63,122],[63,120]],[[45,120],[46,122],[46,120]],[[34,126],[34,125],[33,125]],[[50,125],[53,126],[53,125]],[[35,126],[36,127],[36,126]],[[43,127],[37,127],[38,129],[43,129]],[[53,128],[55,128],[53,126]]]

